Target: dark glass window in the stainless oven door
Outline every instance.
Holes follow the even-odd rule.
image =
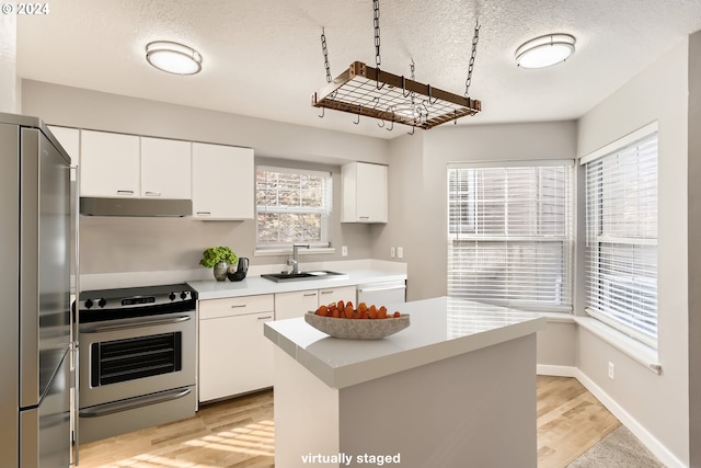
[[[182,368],[182,332],[93,343],[91,386],[117,384]]]

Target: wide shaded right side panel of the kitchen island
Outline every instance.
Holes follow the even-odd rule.
[[[537,466],[535,333],[338,391],[350,466]]]

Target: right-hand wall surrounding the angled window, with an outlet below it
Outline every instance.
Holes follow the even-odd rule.
[[[647,431],[685,465],[689,463],[688,50],[685,39],[596,105],[577,125],[577,156],[582,157],[653,121],[658,122],[657,300],[663,372],[656,375],[582,328],[577,367],[642,431]],[[576,313],[583,310],[584,305],[576,304]],[[607,377],[608,362],[616,365],[613,380]]]

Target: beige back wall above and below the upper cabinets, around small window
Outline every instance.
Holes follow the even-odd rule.
[[[333,246],[347,246],[349,260],[372,254],[370,226],[337,222],[340,164],[356,159],[387,163],[387,140],[32,80],[24,80],[22,90],[23,113],[50,125],[244,146],[254,149],[256,163],[330,170],[336,208]],[[211,246],[230,246],[239,256],[249,256],[252,265],[286,259],[254,258],[253,220],[81,217],[80,224],[82,274],[198,269],[202,251]],[[330,260],[342,260],[340,249],[335,254],[301,258],[301,262]]]

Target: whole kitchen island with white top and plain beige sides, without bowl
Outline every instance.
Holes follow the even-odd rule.
[[[536,467],[537,315],[439,297],[411,326],[340,340],[303,318],[275,343],[275,465]]]

